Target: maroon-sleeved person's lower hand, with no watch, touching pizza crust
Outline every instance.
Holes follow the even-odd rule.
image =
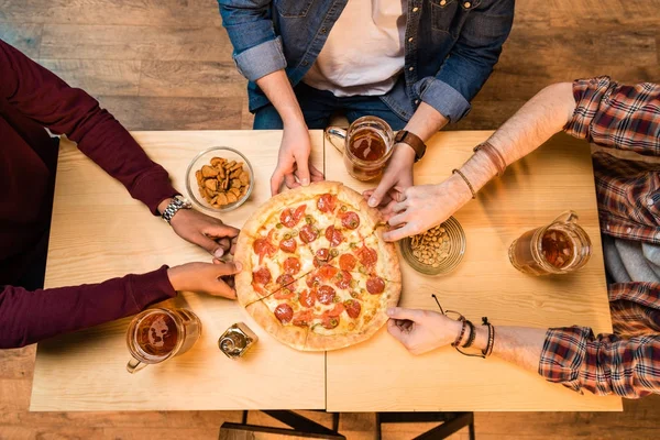
[[[242,270],[239,262],[187,263],[169,267],[167,277],[175,290],[197,292],[234,299],[233,275]]]

